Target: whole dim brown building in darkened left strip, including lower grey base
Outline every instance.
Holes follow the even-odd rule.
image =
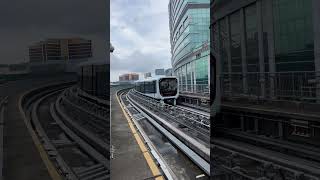
[[[91,40],[82,38],[51,38],[29,46],[32,74],[76,72],[79,63],[91,58]]]

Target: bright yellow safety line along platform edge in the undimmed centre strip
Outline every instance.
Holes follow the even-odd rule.
[[[140,147],[140,150],[142,151],[142,154],[143,154],[144,158],[146,159],[146,161],[147,161],[147,163],[148,163],[148,165],[149,165],[149,168],[150,168],[150,170],[151,170],[151,172],[152,172],[152,175],[153,175],[154,177],[156,177],[156,178],[155,178],[156,180],[164,180],[164,177],[161,175],[158,166],[157,166],[156,163],[154,162],[151,154],[149,153],[149,151],[148,151],[148,149],[146,148],[145,144],[143,143],[141,137],[140,137],[139,134],[137,133],[137,130],[136,130],[136,128],[134,127],[132,120],[128,117],[126,111],[124,110],[124,108],[123,108],[123,106],[122,106],[122,104],[121,104],[121,102],[120,102],[120,99],[119,99],[119,97],[118,97],[117,94],[116,94],[116,97],[117,97],[118,103],[119,103],[119,105],[120,105],[120,107],[121,107],[121,109],[122,109],[122,112],[123,112],[124,116],[126,117],[126,119],[127,119],[127,121],[128,121],[128,124],[129,124],[129,127],[130,127],[130,129],[131,129],[131,132],[132,132],[132,134],[134,135],[134,137],[135,137],[135,139],[136,139],[136,141],[137,141],[137,143],[138,143],[138,145],[139,145],[139,147]]]

